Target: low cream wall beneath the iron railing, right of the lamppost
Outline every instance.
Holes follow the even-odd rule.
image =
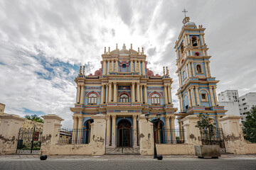
[[[195,154],[193,144],[157,144],[157,154]]]

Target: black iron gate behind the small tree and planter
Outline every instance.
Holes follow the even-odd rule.
[[[222,128],[215,128],[212,131],[201,131],[202,145],[220,145],[220,153],[225,153],[225,141]]]

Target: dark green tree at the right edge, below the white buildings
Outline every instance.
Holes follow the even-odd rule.
[[[256,142],[256,106],[252,106],[249,112],[246,113],[246,120],[243,123],[243,134],[245,140]]]

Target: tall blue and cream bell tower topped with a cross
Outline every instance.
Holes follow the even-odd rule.
[[[176,65],[178,67],[179,89],[177,96],[180,102],[178,117],[179,125],[181,119],[187,115],[198,115],[208,113],[218,126],[218,118],[225,115],[223,106],[218,106],[216,86],[218,80],[210,74],[210,57],[208,47],[204,38],[202,25],[196,26],[186,16],[183,19],[181,33],[175,43],[177,55]]]

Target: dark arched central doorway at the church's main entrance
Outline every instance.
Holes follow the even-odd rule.
[[[132,125],[128,120],[120,120],[117,125],[117,147],[132,147]]]

